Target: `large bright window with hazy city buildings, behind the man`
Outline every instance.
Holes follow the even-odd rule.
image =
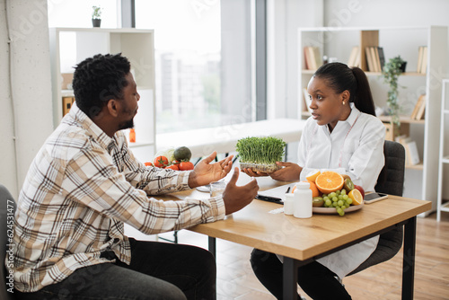
[[[254,119],[251,1],[136,0],[136,28],[154,29],[157,133]]]

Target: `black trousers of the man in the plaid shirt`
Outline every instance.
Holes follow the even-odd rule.
[[[117,260],[76,269],[59,283],[35,293],[15,291],[14,296],[20,300],[215,299],[216,261],[209,251],[182,244],[129,241],[130,265]]]

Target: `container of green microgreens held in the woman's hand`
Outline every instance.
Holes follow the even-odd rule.
[[[237,141],[235,148],[241,169],[275,172],[281,168],[276,162],[282,161],[286,142],[278,137],[245,137]]]

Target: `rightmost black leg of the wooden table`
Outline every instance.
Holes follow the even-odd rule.
[[[402,262],[402,299],[413,299],[415,284],[415,250],[417,241],[417,217],[409,218],[404,225],[404,253]]]

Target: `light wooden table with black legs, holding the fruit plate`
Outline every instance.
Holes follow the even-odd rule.
[[[241,173],[238,183],[249,180],[245,176]],[[270,178],[257,180],[260,190],[287,183]],[[343,217],[314,214],[307,219],[269,213],[278,207],[281,206],[255,199],[223,221],[196,225],[189,230],[207,234],[209,249],[214,254],[216,238],[220,238],[285,256],[284,298],[295,299],[297,268],[300,265],[382,234],[394,226],[405,225],[402,299],[413,298],[416,216],[431,209],[431,202],[389,196]]]

